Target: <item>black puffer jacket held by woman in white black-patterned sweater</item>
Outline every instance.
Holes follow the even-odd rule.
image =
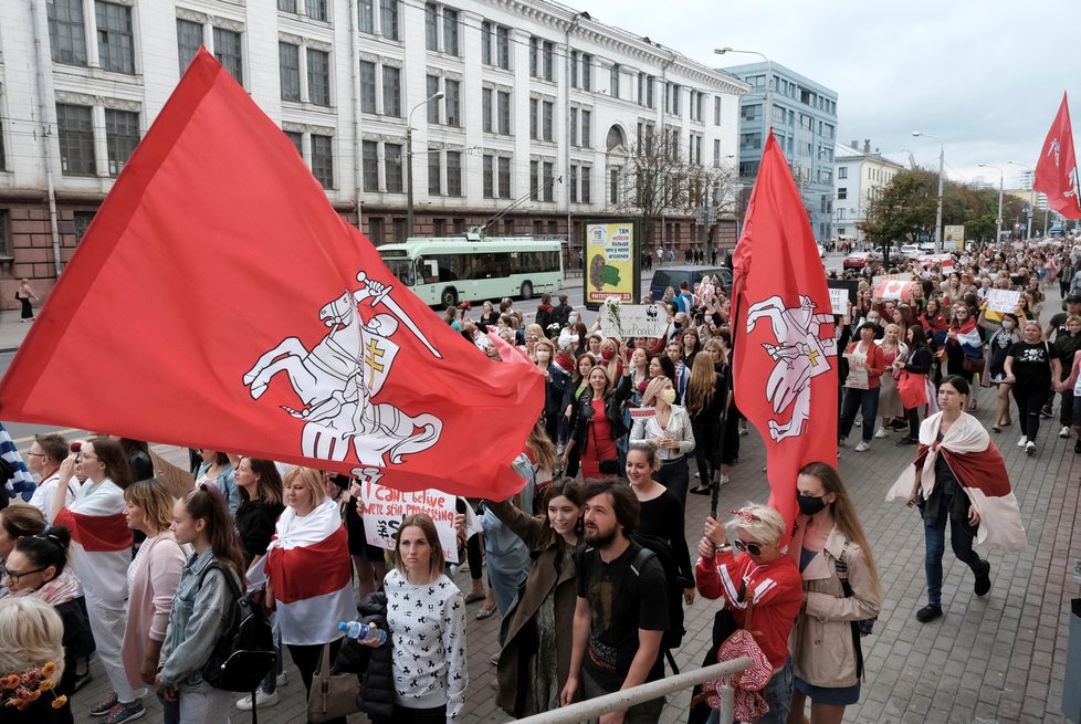
[[[334,660],[332,673],[364,674],[357,706],[374,722],[389,722],[395,715],[395,675],[391,665],[390,627],[387,626],[387,595],[368,594],[360,605],[361,623],[375,623],[387,632],[387,642],[372,649],[346,638]]]

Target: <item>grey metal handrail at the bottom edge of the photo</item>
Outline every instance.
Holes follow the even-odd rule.
[[[739,671],[744,671],[751,665],[751,659],[739,657],[732,661],[722,661],[693,671],[672,674],[664,679],[650,681],[638,686],[631,686],[621,691],[605,694],[597,699],[590,699],[570,706],[560,706],[550,712],[535,714],[518,720],[518,724],[578,724],[599,717],[601,714],[628,709],[634,704],[648,702],[668,694],[675,693],[683,689],[690,689],[695,684],[717,679],[720,676],[731,676]],[[721,689],[721,721],[731,722],[735,703],[735,692],[730,686]]]

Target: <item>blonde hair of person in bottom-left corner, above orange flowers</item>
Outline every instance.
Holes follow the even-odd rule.
[[[52,606],[34,596],[0,599],[0,676],[31,667],[56,664],[53,681],[64,672],[64,625]]]

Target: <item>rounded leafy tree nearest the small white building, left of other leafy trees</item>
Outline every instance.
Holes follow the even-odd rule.
[[[890,252],[899,244],[915,243],[935,225],[937,178],[922,169],[899,171],[872,199],[860,231],[882,250],[890,266]]]

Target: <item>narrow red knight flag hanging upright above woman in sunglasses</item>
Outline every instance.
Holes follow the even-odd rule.
[[[797,471],[837,459],[837,361],[826,273],[773,134],[732,261],[736,405],[762,434],[769,503],[790,529]]]

